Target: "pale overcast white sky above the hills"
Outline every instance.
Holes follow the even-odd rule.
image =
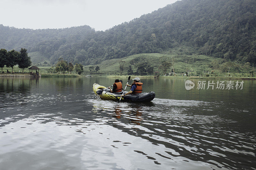
[[[105,31],[177,0],[1,0],[0,24],[45,29],[88,25]]]

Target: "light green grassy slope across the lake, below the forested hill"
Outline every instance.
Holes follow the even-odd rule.
[[[138,66],[145,63],[144,68],[153,66],[154,72],[159,71],[160,74],[164,74],[163,70],[159,67],[163,61],[171,62],[174,58],[174,69],[175,74],[180,75],[189,72],[190,76],[199,76],[211,74],[211,76],[228,76],[232,77],[251,77],[251,70],[253,67],[248,64],[240,64],[237,62],[226,62],[222,58],[213,58],[207,55],[166,55],[159,53],[150,54],[136,54],[121,59],[114,58],[110,60],[105,60],[102,63],[96,65],[87,65],[84,67],[84,74],[110,74],[110,75],[120,75],[119,70],[120,61],[124,62],[123,75],[131,75],[129,72],[129,66],[131,66],[134,75],[141,75],[141,71],[137,72]],[[231,67],[226,67],[227,63],[230,63]],[[90,67],[93,66],[93,72]],[[96,66],[100,67],[98,72],[95,72]],[[145,67],[146,66],[146,67]],[[167,73],[170,73],[172,66],[167,69]],[[213,72],[212,72],[213,71]],[[255,72],[255,70],[254,70]],[[145,73],[148,74],[148,73]]]

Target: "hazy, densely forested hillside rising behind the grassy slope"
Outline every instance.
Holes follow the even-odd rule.
[[[183,53],[253,65],[255,18],[255,0],[182,0],[104,32],[89,26],[32,30],[0,25],[0,48],[27,48],[51,63],[59,57],[88,65],[139,53]]]

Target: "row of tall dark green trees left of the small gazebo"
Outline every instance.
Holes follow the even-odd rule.
[[[18,64],[18,67],[22,69],[22,73],[25,68],[31,66],[30,57],[28,56],[27,49],[21,48],[20,51],[11,50],[8,51],[6,49],[0,50],[0,67],[3,72],[4,66],[11,67],[13,73],[13,67]]]

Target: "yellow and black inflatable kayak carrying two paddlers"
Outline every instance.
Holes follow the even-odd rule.
[[[121,95],[124,91],[118,93],[111,93],[110,89],[105,86],[99,85],[97,83],[93,84],[92,86],[93,92],[96,95],[99,95],[103,100],[113,100],[119,101]],[[124,94],[127,92],[124,92]],[[123,96],[121,101],[129,101],[129,102],[148,102],[155,98],[155,92],[148,92],[148,93],[140,93],[140,94],[131,94]]]

